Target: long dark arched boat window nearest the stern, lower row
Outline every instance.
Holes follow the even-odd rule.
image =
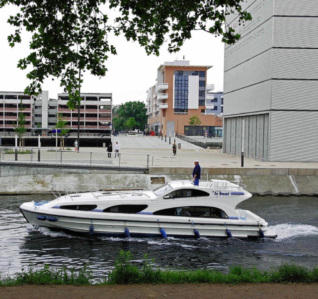
[[[179,206],[165,208],[156,212],[154,215],[163,216],[191,216],[206,218],[228,218],[228,215],[222,209],[212,206]]]

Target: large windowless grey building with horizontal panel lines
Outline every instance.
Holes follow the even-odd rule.
[[[318,161],[318,5],[247,0],[252,21],[230,23],[225,47],[224,152],[268,161]],[[243,138],[242,138],[243,133]]]

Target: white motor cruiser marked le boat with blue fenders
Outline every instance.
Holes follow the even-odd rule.
[[[225,180],[168,182],[153,191],[66,193],[31,201],[20,210],[32,225],[86,235],[119,237],[275,238],[268,223],[236,208],[251,197]]]

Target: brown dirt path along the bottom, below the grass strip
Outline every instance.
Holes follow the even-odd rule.
[[[318,284],[0,287],[0,299],[318,299]]]

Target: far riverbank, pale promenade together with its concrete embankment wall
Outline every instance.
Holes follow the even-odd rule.
[[[240,167],[238,155],[204,149],[177,138],[176,143],[180,143],[181,148],[176,156],[172,154],[169,140],[156,136],[120,135],[112,137],[112,142],[120,145],[121,159],[107,158],[105,149],[97,148],[81,148],[80,153],[73,149],[63,155],[43,151],[41,163],[37,163],[35,155],[28,164],[22,160],[26,155],[10,161],[4,154],[0,161],[0,193],[49,193],[51,185],[56,185],[61,192],[66,187],[81,191],[92,185],[98,189],[152,190],[171,180],[190,179],[193,161],[198,159],[201,180],[234,181],[246,185],[245,189],[256,195],[318,195],[318,162],[268,162],[245,158],[244,167]],[[54,156],[56,165],[48,160],[49,154]],[[62,156],[63,161],[67,161],[65,164],[59,164]],[[84,161],[92,161],[95,166],[79,166]],[[142,169],[138,170],[138,166]]]

